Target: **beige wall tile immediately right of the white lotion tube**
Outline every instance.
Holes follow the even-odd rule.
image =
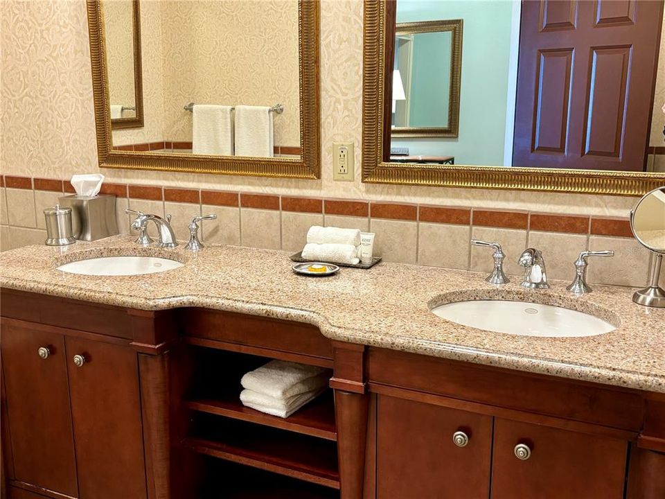
[[[376,234],[375,256],[381,256],[384,261],[389,262],[416,263],[418,239],[416,222],[373,218],[369,222],[369,230]]]

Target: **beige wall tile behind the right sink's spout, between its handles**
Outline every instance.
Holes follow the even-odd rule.
[[[548,279],[572,281],[575,277],[574,262],[587,245],[587,236],[582,234],[529,231],[529,247],[542,252]]]

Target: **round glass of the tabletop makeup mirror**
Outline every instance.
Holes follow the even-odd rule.
[[[639,201],[630,225],[640,243],[665,253],[665,187],[651,191]]]

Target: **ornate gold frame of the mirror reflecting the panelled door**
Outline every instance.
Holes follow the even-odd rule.
[[[477,189],[643,195],[665,184],[664,173],[391,163],[395,0],[365,0],[362,84],[362,182]]]

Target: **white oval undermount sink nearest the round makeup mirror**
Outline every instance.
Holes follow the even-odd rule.
[[[436,306],[432,313],[456,324],[485,331],[544,338],[579,338],[617,329],[594,315],[528,301],[456,301]]]

